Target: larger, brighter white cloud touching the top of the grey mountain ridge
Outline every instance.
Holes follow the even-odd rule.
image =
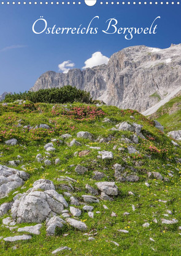
[[[83,68],[91,68],[94,66],[107,64],[109,58],[102,55],[101,52],[94,52],[90,59],[85,60],[85,66]]]

